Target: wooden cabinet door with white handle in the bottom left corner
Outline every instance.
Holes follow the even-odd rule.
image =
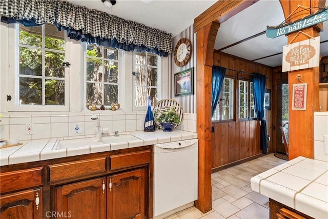
[[[22,192],[15,192],[8,195],[2,195],[1,219],[24,218],[38,219],[42,218],[42,189],[29,189]]]

